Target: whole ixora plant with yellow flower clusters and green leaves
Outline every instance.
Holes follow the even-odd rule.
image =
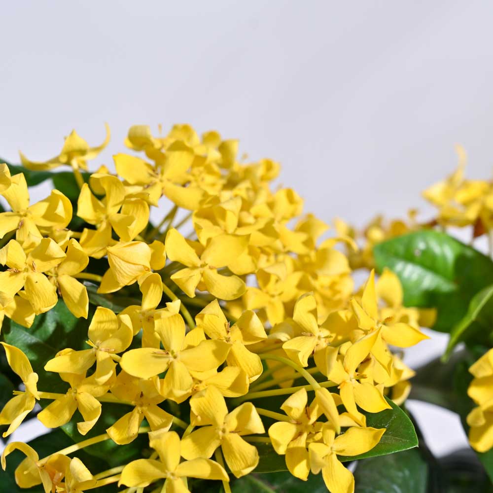
[[[279,164],[240,162],[216,132],[134,126],[116,174],[90,174],[108,140],[72,132],[46,162],[0,165],[2,491],[425,492],[406,398],[472,401],[467,366],[465,387],[435,362],[412,390],[400,348],[420,326],[466,341],[457,371],[484,353],[467,423],[493,463],[488,257],[414,222],[376,221],[358,247],[337,221],[322,240],[298,194],[270,188]],[[491,185],[460,173],[427,193],[437,223],[488,232]],[[52,431],[8,441],[34,418]]]

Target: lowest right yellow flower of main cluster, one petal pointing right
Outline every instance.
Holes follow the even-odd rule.
[[[351,457],[368,452],[377,445],[385,431],[385,428],[351,427],[336,437],[333,429],[324,427],[323,443],[311,443],[308,447],[312,472],[318,474],[322,471],[330,493],[353,493],[354,477],[337,456]]]

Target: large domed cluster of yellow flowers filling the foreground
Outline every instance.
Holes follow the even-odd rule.
[[[426,338],[418,310],[403,307],[398,278],[386,270],[376,281],[371,271],[355,290],[341,251],[358,254],[349,229],[339,224],[336,236],[322,239],[328,225],[303,215],[301,197],[273,190],[279,164],[240,162],[235,140],[217,132],[199,138],[188,125],[164,137],[135,126],[125,143],[139,155],[116,154],[116,174],[106,166],[83,173],[107,139],[90,147],[72,132],[55,158],[21,155],[29,170],[70,166],[80,187],[75,201],[53,190],[30,205],[25,176],[0,167],[0,193],[12,210],[0,214],[0,316],[30,327],[64,303],[74,317],[89,318],[85,348],[59,348],[44,365],[66,383],[65,393],[38,389],[42,375],[28,357],[2,343],[24,387],[0,424],[9,425],[8,436],[37,401],[41,423],[76,420],[80,435],[108,403],[122,404],[121,416],[104,435],[46,458],[10,443],[2,466],[21,450],[17,484],[42,483],[46,492],[110,483],[143,491],[163,482],[163,491],[184,492],[187,477],[220,480],[228,492],[229,473],[255,470],[262,444],[284,456],[295,477],[321,471],[330,492],[352,492],[339,457],[373,449],[386,430],[367,426],[367,415],[409,393],[413,371],[389,346]],[[171,210],[153,226],[150,210],[166,202]],[[111,293],[135,302],[95,308],[96,289],[96,300]],[[286,397],[277,410],[252,402],[276,395]],[[68,457],[145,432],[150,457],[117,471],[93,475]]]

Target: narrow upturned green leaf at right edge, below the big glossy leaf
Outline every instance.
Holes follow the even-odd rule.
[[[465,316],[454,326],[450,333],[449,344],[444,354],[448,358],[460,341],[475,336],[481,342],[487,341],[493,329],[493,285],[477,293],[469,303]]]

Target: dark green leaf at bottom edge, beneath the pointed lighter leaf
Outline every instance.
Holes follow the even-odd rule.
[[[428,465],[418,449],[358,462],[354,493],[426,493]]]

